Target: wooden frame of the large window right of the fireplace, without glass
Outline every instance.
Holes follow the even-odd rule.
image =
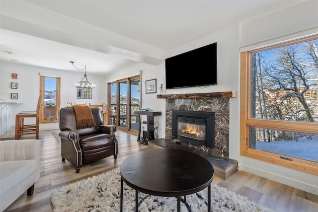
[[[307,134],[318,134],[318,123],[293,122],[270,119],[251,118],[251,54],[259,51],[275,49],[287,45],[318,39],[318,35],[294,39],[287,42],[269,45],[240,54],[240,155],[272,163],[279,166],[318,175],[318,163],[293,158],[292,161],[280,158],[281,154],[249,148],[249,128],[265,128],[286,130]]]

